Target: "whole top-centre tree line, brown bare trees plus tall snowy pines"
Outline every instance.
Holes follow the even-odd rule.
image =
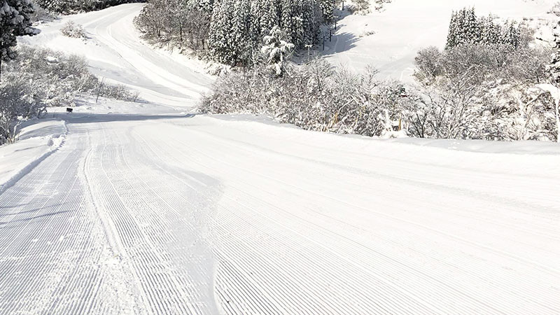
[[[146,39],[224,64],[251,64],[274,27],[295,48],[318,43],[335,0],[150,0],[136,20]]]

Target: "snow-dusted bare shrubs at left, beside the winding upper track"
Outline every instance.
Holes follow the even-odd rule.
[[[41,116],[48,106],[72,106],[78,94],[97,94],[99,79],[83,57],[47,48],[18,47],[15,59],[2,64],[0,138],[14,141],[18,125]],[[104,85],[102,97],[135,101],[136,92],[120,85]]]

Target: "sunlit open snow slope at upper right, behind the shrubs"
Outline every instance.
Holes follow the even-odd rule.
[[[347,3],[348,1],[346,1]],[[478,15],[522,21],[530,25],[554,18],[547,14],[557,0],[393,0],[382,12],[342,13],[339,29],[325,52],[335,64],[355,71],[379,69],[381,78],[411,82],[414,57],[421,48],[444,48],[453,10],[474,6]],[[540,34],[538,34],[540,35]],[[542,37],[542,36],[541,36]]]

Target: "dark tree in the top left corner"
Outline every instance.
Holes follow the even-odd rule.
[[[40,30],[31,27],[29,15],[34,12],[31,0],[1,0],[0,3],[0,57],[12,59],[16,37],[33,36]]]

